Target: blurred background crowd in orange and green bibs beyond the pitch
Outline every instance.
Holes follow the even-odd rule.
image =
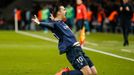
[[[65,23],[74,31],[81,29],[81,25],[85,26],[86,33],[90,32],[122,32],[120,5],[122,0],[83,0],[85,7],[84,14],[80,14],[79,5],[76,1],[62,2],[66,7]],[[61,4],[62,4],[61,3]],[[130,1],[131,9],[134,8],[134,1]],[[56,7],[56,4],[36,4],[32,10],[21,10],[17,8],[16,14],[21,30],[38,30],[39,28],[32,23],[31,18],[35,14],[40,21],[49,22],[51,8]],[[81,8],[81,7],[80,7]],[[133,12],[133,11],[132,11]],[[81,17],[84,16],[84,17]],[[83,21],[84,20],[84,21]],[[3,23],[0,20],[0,24]],[[48,29],[44,28],[44,32]],[[131,15],[131,26],[129,27],[131,33],[134,34],[134,12]]]

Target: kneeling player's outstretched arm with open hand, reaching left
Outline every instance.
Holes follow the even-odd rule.
[[[52,15],[50,18],[52,19]],[[45,26],[45,27],[52,28],[52,29],[54,28],[53,23],[40,22],[36,15],[34,15],[34,18],[32,18],[32,21],[41,26]]]

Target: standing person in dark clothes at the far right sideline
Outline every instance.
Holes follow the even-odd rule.
[[[123,37],[124,37],[124,46],[129,45],[128,42],[128,35],[129,35],[129,27],[131,23],[131,17],[133,14],[132,7],[128,4],[128,0],[123,0],[123,3],[120,6],[120,19],[121,25],[123,30]]]

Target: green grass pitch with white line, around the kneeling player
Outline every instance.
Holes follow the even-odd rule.
[[[28,32],[55,39],[51,33]],[[86,38],[86,47],[134,59],[134,35],[130,45],[122,46],[121,34],[92,33]],[[86,54],[94,62],[98,75],[133,75],[134,62],[92,51]],[[71,65],[65,55],[59,55],[57,43],[0,31],[0,75],[54,75]]]

